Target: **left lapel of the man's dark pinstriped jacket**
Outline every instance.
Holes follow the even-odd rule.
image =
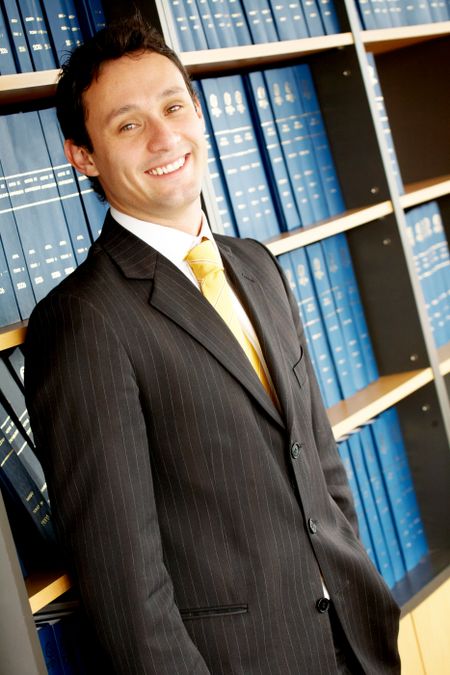
[[[126,277],[152,280],[150,305],[207,349],[274,421],[284,425],[280,413],[229,328],[180,270],[165,256],[118,225],[111,216],[105,222],[98,245],[114,259]],[[224,262],[228,271],[228,259]],[[253,319],[252,313],[251,320]],[[255,329],[259,337],[259,324]]]

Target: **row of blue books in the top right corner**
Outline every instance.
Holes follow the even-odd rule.
[[[358,0],[366,30],[450,20],[448,0]]]

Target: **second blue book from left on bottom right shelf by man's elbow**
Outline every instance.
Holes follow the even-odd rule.
[[[386,539],[381,527],[380,517],[377,512],[375,500],[373,498],[370,480],[367,475],[359,433],[351,434],[347,443],[353,465],[353,472],[356,476],[356,482],[358,484],[361,501],[366,514],[367,524],[372,537],[378,571],[382,575],[389,588],[392,588],[395,585],[394,572],[389,557]]]

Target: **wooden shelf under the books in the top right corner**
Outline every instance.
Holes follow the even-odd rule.
[[[425,23],[417,26],[398,26],[366,30],[361,34],[366,51],[382,54],[403,47],[410,47],[418,42],[427,42],[450,34],[450,21]]]

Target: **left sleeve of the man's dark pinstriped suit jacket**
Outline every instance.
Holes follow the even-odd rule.
[[[164,565],[139,390],[114,328],[86,301],[51,294],[25,352],[55,524],[108,672],[207,675]]]

